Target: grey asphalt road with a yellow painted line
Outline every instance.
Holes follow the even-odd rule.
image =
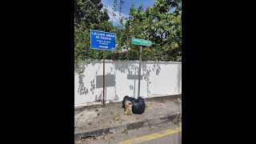
[[[182,144],[182,128],[178,125],[162,124],[138,130],[123,131],[122,134],[109,134],[101,138],[88,138],[79,144]]]

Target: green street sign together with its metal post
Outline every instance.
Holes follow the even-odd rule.
[[[142,46],[151,46],[152,42],[144,39],[132,38],[131,43],[134,45],[141,45],[139,50],[139,64],[138,64],[138,97],[140,97],[141,90],[141,64],[142,64]]]

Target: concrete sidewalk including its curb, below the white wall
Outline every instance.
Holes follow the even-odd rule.
[[[179,98],[179,100],[178,100]],[[74,110],[75,142],[89,136],[120,133],[143,126],[158,125],[163,122],[178,122],[182,114],[182,95],[145,98],[146,110],[143,114],[125,115],[122,102],[106,106],[85,106]]]

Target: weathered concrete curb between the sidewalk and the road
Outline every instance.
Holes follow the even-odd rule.
[[[142,128],[145,126],[158,125],[164,122],[178,122],[179,118],[182,118],[182,114],[170,114],[159,118],[147,119],[140,122],[131,122],[126,125],[113,126],[98,130],[81,130],[74,132],[74,142],[81,141],[82,138],[86,138],[89,136],[99,137],[104,134],[113,134],[113,133],[121,133],[124,130],[135,130],[138,128]]]

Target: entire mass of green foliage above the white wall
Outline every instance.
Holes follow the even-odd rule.
[[[113,1],[113,10],[122,12],[123,0]],[[170,9],[174,12],[170,13]],[[130,6],[130,17],[115,15],[103,8],[101,0],[74,0],[74,63],[102,59],[102,50],[90,49],[90,30],[116,34],[116,50],[106,50],[106,59],[138,60],[139,46],[131,44],[131,38],[150,40],[153,45],[142,46],[143,61],[182,61],[182,5],[181,0],[155,0],[154,6],[143,10],[142,6]],[[120,22],[113,26],[109,14]],[[126,22],[124,21],[126,20]],[[122,22],[125,22],[122,24]],[[122,48],[126,53],[118,53]]]

